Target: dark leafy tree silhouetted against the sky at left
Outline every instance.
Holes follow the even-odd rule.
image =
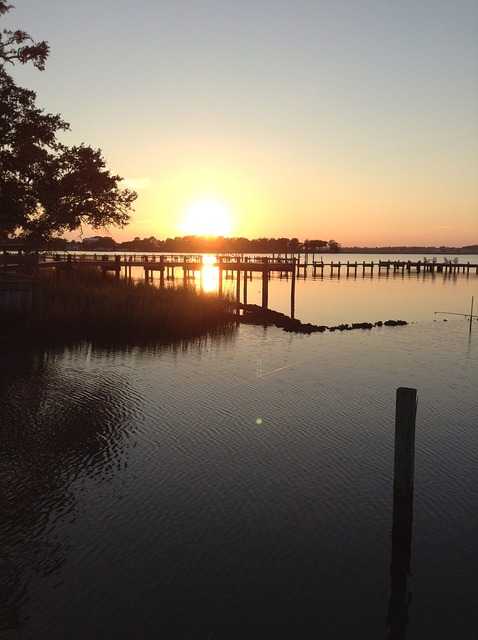
[[[0,18],[11,8],[0,0]],[[0,34],[0,239],[36,245],[84,224],[124,227],[137,197],[106,168],[101,150],[61,143],[69,124],[37,107],[35,92],[7,73],[15,62],[42,70],[48,51],[24,31]]]

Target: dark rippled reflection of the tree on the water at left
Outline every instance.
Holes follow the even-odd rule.
[[[58,364],[61,360],[61,365]],[[76,508],[72,487],[85,478],[103,483],[126,464],[127,424],[137,409],[121,369],[79,376],[82,349],[61,355],[16,349],[2,354],[0,426],[2,467],[0,628],[18,626],[32,576],[65,562],[58,521]],[[74,363],[73,367],[69,363]],[[124,399],[127,398],[127,402]]]

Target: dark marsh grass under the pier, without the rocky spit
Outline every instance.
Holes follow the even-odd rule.
[[[231,325],[230,302],[193,288],[103,277],[93,269],[41,277],[34,334],[49,341],[167,342]]]

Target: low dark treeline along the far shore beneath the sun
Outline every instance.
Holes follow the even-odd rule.
[[[85,238],[82,242],[68,242],[64,238],[52,240],[55,250],[85,251],[147,251],[150,253],[413,253],[413,254],[478,254],[478,244],[466,247],[383,246],[342,247],[336,240],[303,240],[298,238],[224,238],[222,236],[184,236],[158,240],[136,237],[127,242],[116,242],[109,236]]]

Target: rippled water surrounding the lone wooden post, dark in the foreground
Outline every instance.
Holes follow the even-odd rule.
[[[271,280],[272,307],[289,287]],[[434,314],[467,313],[477,287],[308,278],[303,321],[410,324],[3,349],[0,637],[477,638],[478,323]],[[419,393],[402,635],[387,626],[400,386]]]

